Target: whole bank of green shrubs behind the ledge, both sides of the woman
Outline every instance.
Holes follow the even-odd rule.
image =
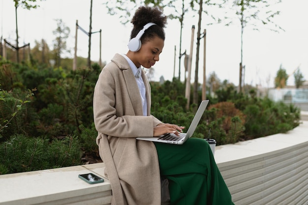
[[[81,154],[99,157],[92,109],[98,64],[76,71],[5,60],[0,66],[0,174],[80,164]],[[37,88],[34,96],[23,91],[29,87]],[[152,115],[187,131],[198,105],[186,109],[185,83],[151,82],[151,89]],[[200,100],[201,90],[197,95]],[[237,93],[226,84],[208,99],[193,137],[214,138],[217,145],[287,132],[300,123],[300,109],[257,98],[253,89]]]

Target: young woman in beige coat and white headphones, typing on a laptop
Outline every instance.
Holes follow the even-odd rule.
[[[190,138],[184,145],[136,140],[179,135],[184,127],[150,114],[151,88],[141,69],[159,60],[166,16],[143,6],[131,23],[129,51],[116,54],[102,69],[93,96],[96,143],[111,183],[112,205],[160,205],[160,175],[168,178],[173,205],[233,205],[204,140]]]

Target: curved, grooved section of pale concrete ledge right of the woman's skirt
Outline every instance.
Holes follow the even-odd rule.
[[[308,204],[308,121],[286,134],[217,146],[236,205]]]

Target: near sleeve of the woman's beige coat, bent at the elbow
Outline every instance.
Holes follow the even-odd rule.
[[[106,68],[98,77],[93,94],[96,130],[109,136],[123,138],[153,137],[154,126],[160,121],[153,116],[136,116],[130,101],[131,96],[123,90],[119,91],[123,87],[123,82],[119,81],[121,79],[116,78]]]

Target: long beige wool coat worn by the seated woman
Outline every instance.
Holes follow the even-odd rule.
[[[140,92],[132,70],[116,54],[101,71],[94,89],[96,143],[105,163],[113,193],[112,205],[160,205],[160,174],[154,143],[136,140],[153,137],[161,123],[150,115],[151,88],[146,87],[148,116],[143,116]]]

